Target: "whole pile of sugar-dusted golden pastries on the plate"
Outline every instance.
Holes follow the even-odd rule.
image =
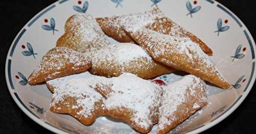
[[[120,43],[110,44],[106,35]],[[211,62],[211,49],[159,9],[105,18],[73,15],[65,34],[29,76],[53,93],[50,111],[85,125],[102,115],[141,133],[166,133],[207,104],[204,81],[229,88]],[[168,86],[146,79],[190,73]],[[203,81],[204,80],[204,81]]]

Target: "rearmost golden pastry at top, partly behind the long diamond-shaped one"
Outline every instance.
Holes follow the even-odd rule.
[[[161,34],[176,37],[187,37],[197,43],[208,55],[212,50],[198,37],[183,29],[180,25],[166,17],[158,8],[144,13],[134,13],[123,16],[96,18],[103,32],[120,42],[133,42],[133,39],[123,31],[120,25],[133,24],[133,29],[147,28]]]

